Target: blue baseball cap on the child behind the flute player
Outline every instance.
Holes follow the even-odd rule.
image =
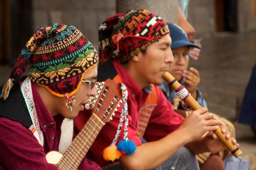
[[[189,38],[186,35],[185,31],[180,28],[179,26],[177,26],[174,23],[167,23],[169,30],[170,30],[170,36],[172,38],[172,45],[171,45],[171,49],[174,48],[179,48],[179,47],[183,47],[183,46],[190,46],[190,47],[195,47],[195,48],[199,48],[197,45],[193,44],[192,42],[189,42]]]

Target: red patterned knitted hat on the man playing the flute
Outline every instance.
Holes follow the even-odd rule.
[[[99,27],[99,64],[111,57],[127,62],[166,34],[170,34],[166,22],[145,9],[115,14]]]

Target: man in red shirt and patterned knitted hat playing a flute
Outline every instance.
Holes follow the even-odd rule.
[[[122,111],[102,128],[88,152],[106,170],[197,170],[195,154],[225,148],[213,133],[202,137],[219,124],[207,108],[184,119],[157,86],[174,62],[169,34],[166,22],[145,9],[116,14],[99,28],[99,79],[122,82],[123,94],[128,92]],[[77,122],[82,119],[87,114],[79,114]],[[147,143],[141,143],[142,137]]]

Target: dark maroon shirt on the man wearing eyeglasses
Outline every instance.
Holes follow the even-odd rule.
[[[0,169],[58,170],[55,165],[47,163],[45,155],[51,150],[58,151],[64,117],[59,114],[52,117],[33,83],[32,91],[38,121],[44,134],[44,147],[25,126],[0,117]],[[101,168],[85,158],[78,169],[100,170]]]

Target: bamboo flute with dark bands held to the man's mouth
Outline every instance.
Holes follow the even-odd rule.
[[[169,83],[169,85],[176,91],[179,88],[182,88],[182,85],[170,74],[169,72],[166,72],[163,75],[163,78],[166,80],[166,82]],[[198,104],[198,102],[195,101],[195,99],[192,96],[186,96],[184,99],[187,104],[195,111],[199,108],[202,108],[201,105]],[[232,143],[231,139],[226,139],[226,134],[221,132],[221,127],[218,127],[217,130],[213,131],[218,138],[226,145],[226,147],[230,150],[230,152],[237,158],[242,154],[242,151]]]

